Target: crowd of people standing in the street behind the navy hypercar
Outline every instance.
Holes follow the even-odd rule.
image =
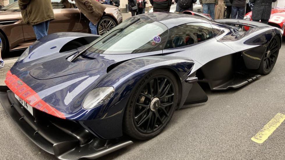
[[[17,0],[15,0],[17,1]],[[65,0],[62,0],[65,1]],[[97,23],[105,14],[105,6],[101,3],[120,6],[120,0],[72,0],[77,8],[89,20],[89,27],[92,34],[97,34]],[[193,4],[197,0],[174,0],[176,13],[183,13],[185,10],[193,10]],[[224,18],[224,8],[226,6],[226,18],[243,19],[246,13],[252,11],[252,20],[268,23],[271,14],[272,2],[276,0],[199,0],[203,7],[204,14],[210,14],[212,19]],[[50,0],[29,1],[19,0],[19,7],[24,22],[33,26],[36,38],[47,35],[49,21],[53,20],[54,13]],[[128,9],[132,16],[145,13],[146,0],[128,0]],[[172,0],[150,0],[153,12],[169,12]],[[3,7],[3,0],[0,0],[0,7]],[[26,9],[29,8],[29,11]],[[40,12],[40,13],[39,13]],[[4,66],[0,52],[0,68]]]

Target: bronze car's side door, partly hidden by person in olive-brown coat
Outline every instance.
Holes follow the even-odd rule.
[[[52,0],[55,19],[50,21],[48,34],[80,31],[80,12],[71,0]],[[36,39],[33,27],[23,24],[25,41]]]

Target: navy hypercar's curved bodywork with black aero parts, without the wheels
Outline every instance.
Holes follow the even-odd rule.
[[[29,138],[59,159],[102,156],[98,148],[106,154],[110,147],[114,151],[132,143],[118,142],[123,136],[124,110],[132,90],[148,73],[163,68],[176,77],[177,109],[184,104],[208,100],[201,83],[208,84],[211,90],[226,90],[241,87],[260,76],[248,71],[259,68],[268,43],[276,36],[281,40],[283,32],[258,22],[245,24],[254,27],[247,32],[238,31],[226,23],[242,25],[188,14],[149,13],[129,18],[102,37],[86,33],[48,35],[31,45],[26,57],[20,58],[7,73],[8,88],[0,88],[0,101],[17,124],[20,123],[17,118],[22,116],[28,123],[26,126],[31,126],[30,129],[20,127]],[[205,26],[209,28],[203,28]],[[191,27],[189,32],[183,33]],[[148,31],[153,33],[148,35]],[[180,34],[176,35],[175,31]],[[136,41],[132,39],[132,32],[146,35]],[[86,45],[66,49],[72,41]],[[126,41],[130,43],[123,46],[125,48],[112,48]],[[140,42],[142,46],[136,47]],[[83,102],[87,95],[94,88],[104,87],[114,89],[109,99],[85,109]],[[26,109],[20,109],[21,104],[15,97],[27,107],[33,107],[33,116]],[[37,117],[35,123],[34,117]],[[69,135],[72,140],[54,137],[41,125],[42,121],[52,124],[50,130],[63,132],[62,135]],[[65,127],[70,123],[77,129]],[[35,130],[41,140],[29,135]],[[110,143],[111,139],[116,141]],[[99,140],[108,141],[102,145]],[[94,150],[79,153],[92,145],[96,146]],[[79,156],[71,158],[77,154]]]

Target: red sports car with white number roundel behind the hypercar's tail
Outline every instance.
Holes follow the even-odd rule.
[[[252,20],[252,12],[249,12],[245,15],[245,20]],[[268,24],[280,29],[284,28],[285,24],[285,0],[278,0],[275,3],[272,3],[272,11]],[[245,26],[245,30],[249,30],[249,27]],[[285,33],[283,33],[285,36]]]

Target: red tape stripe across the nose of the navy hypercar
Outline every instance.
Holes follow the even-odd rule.
[[[13,93],[22,98],[33,108],[46,112],[50,115],[65,119],[63,113],[43,101],[32,88],[30,88],[16,75],[13,75],[10,71],[8,71],[6,74],[5,83],[10,88],[10,90],[12,90]]]

